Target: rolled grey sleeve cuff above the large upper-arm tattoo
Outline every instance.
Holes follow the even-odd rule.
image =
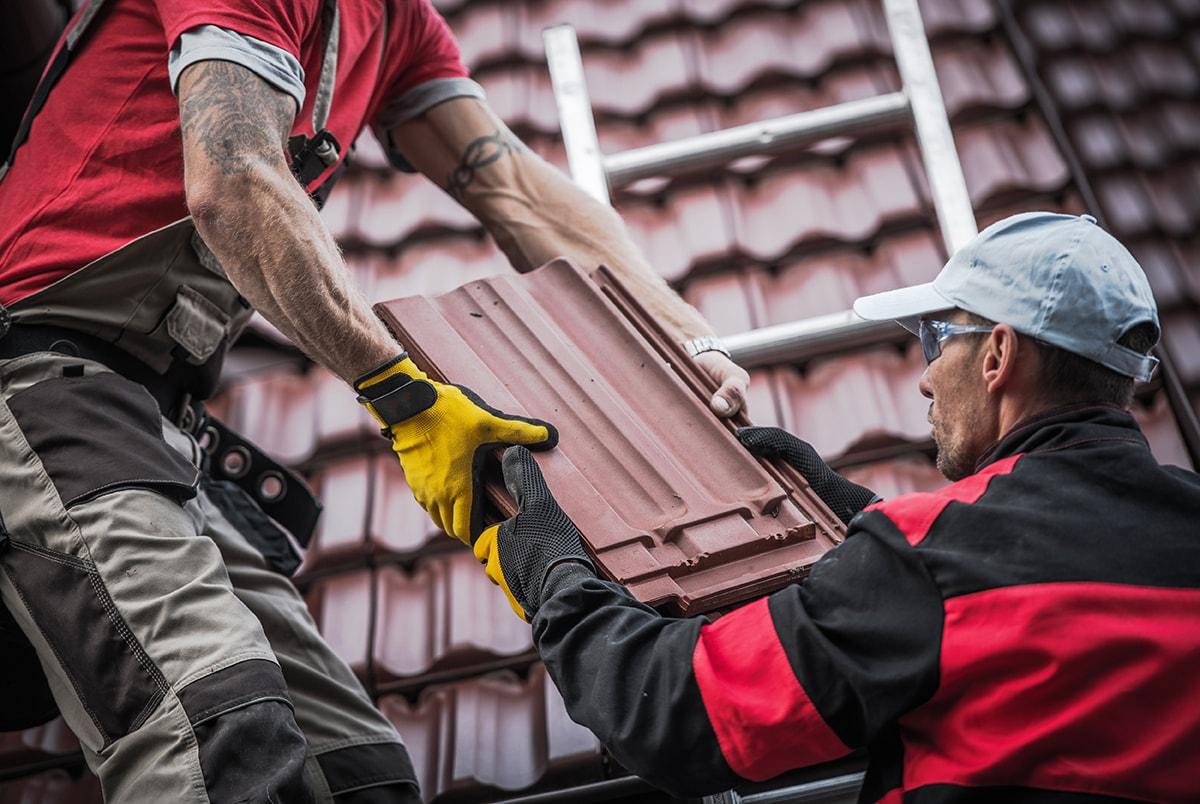
[[[217,25],[200,25],[184,31],[167,58],[170,91],[178,91],[179,74],[197,61],[241,65],[275,89],[290,95],[298,112],[304,106],[304,67],[294,55],[274,44]]]

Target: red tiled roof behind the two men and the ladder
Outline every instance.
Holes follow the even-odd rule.
[[[578,29],[606,152],[899,88],[877,0],[436,2],[493,107],[559,166],[540,43],[541,26],[557,22]],[[1014,56],[1007,4],[920,5],[980,226],[1025,209],[1085,211],[1069,155]],[[1012,5],[1099,211],[1151,278],[1198,404],[1200,2]],[[324,211],[368,298],[438,294],[509,270],[449,197],[385,164],[362,138]],[[902,130],[643,180],[616,202],[655,268],[722,334],[845,310],[863,293],[929,280],[946,258]],[[919,370],[916,350],[899,342],[756,368],[751,414],[797,431],[884,496],[934,488],[943,481]],[[300,584],[408,740],[427,799],[486,800],[619,773],[565,718],[528,628],[473,558],[433,532],[340,380],[319,368],[268,370],[215,407],[322,491],[326,510]],[[1162,390],[1148,389],[1135,414],[1160,460],[1188,463]],[[71,750],[49,733],[6,738],[0,764],[53,763]],[[94,782],[72,796],[61,773],[36,779],[0,784],[0,804],[98,800]]]

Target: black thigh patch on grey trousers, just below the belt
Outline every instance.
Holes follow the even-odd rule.
[[[199,470],[163,439],[149,391],[120,374],[48,379],[12,395],[8,409],[66,508],[119,488],[196,497]]]

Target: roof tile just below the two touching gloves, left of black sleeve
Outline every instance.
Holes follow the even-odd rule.
[[[422,562],[412,575],[380,569],[376,594],[374,667],[380,685],[533,650],[529,625],[512,613],[504,593],[466,548]]]

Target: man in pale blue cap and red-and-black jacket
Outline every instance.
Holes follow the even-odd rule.
[[[860,299],[920,335],[937,463],[880,502],[774,428],[848,521],[811,576],[716,622],[596,577],[532,455],[487,572],[570,715],[677,794],[870,757],[864,802],[1200,800],[1200,476],[1128,412],[1158,316],[1088,216],[1025,214],[925,286]]]

